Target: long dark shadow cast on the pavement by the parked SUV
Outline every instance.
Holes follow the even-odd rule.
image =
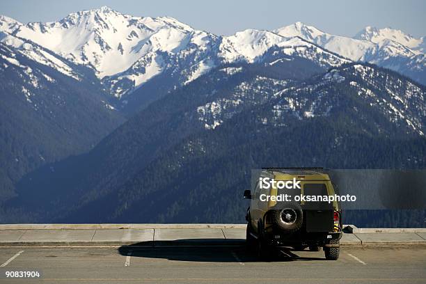
[[[260,259],[255,251],[250,251],[241,240],[223,239],[178,239],[167,242],[138,242],[118,248],[120,255],[136,258],[163,258],[189,262],[292,262],[325,260],[322,252],[295,251],[280,247],[270,258]],[[301,255],[303,254],[303,255]]]

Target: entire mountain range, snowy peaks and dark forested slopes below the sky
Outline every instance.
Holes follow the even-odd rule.
[[[0,16],[0,222],[240,222],[251,168],[423,168],[424,39]]]

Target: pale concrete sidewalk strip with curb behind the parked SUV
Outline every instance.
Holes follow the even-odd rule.
[[[425,246],[425,231],[349,225],[340,244]],[[0,225],[0,246],[242,246],[245,237],[246,224]]]

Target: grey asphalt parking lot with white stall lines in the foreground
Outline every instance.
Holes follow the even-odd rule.
[[[0,265],[0,283],[426,283],[425,246],[342,247],[337,261],[283,248],[267,262],[244,246],[1,247]]]

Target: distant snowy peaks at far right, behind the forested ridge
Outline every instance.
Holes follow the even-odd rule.
[[[352,61],[374,63],[426,84],[424,38],[413,38],[395,29],[370,26],[354,38],[347,38],[325,33],[301,22],[274,32],[281,36],[299,36]]]

